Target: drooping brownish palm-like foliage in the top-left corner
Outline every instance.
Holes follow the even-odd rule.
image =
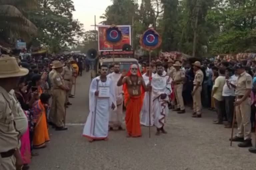
[[[36,0],[0,0],[0,39],[12,43],[36,35],[37,27],[24,15],[25,10],[35,8]]]

